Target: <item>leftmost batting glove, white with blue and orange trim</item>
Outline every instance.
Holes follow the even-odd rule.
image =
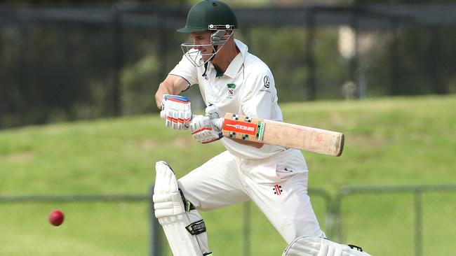
[[[192,118],[190,99],[179,95],[164,94],[161,99],[161,118],[173,129],[188,129]]]

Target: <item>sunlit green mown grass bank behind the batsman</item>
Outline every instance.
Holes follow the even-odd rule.
[[[305,102],[282,104],[282,111],[286,122],[346,135],[342,157],[304,152],[310,188],[334,196],[345,185],[456,183],[455,96]],[[154,183],[156,161],[166,160],[181,177],[222,150],[219,143],[196,143],[188,131],[166,129],[155,115],[2,130],[0,194],[145,194]],[[443,211],[425,211],[429,220],[437,216],[456,224],[448,214],[438,214],[454,213],[448,198],[455,199],[427,200],[436,207],[447,202]],[[413,206],[402,200],[363,210],[369,216],[358,221],[367,224],[349,238],[381,255],[375,254],[382,246],[375,242],[378,236],[403,235],[402,244],[396,239],[397,255],[412,255],[413,231],[401,233],[398,223],[413,222],[413,211],[403,213]],[[323,203],[316,198],[314,204],[324,227]],[[61,227],[47,223],[53,208],[67,214]],[[4,203],[0,209],[0,255],[147,255],[149,250],[147,204]],[[250,223],[251,255],[280,255],[286,243],[255,207],[250,210],[255,216]],[[215,255],[242,255],[242,211],[239,205],[203,213]],[[443,231],[444,236],[435,232],[436,224],[429,220],[427,234],[454,237],[450,230]]]

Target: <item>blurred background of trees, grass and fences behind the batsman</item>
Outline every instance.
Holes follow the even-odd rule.
[[[175,30],[196,2],[0,2],[0,255],[170,255],[152,216],[153,163],[182,176],[222,151],[156,117],[154,93],[189,41]],[[226,2],[286,121],[347,135],[345,158],[306,155],[330,239],[450,255],[456,1]],[[197,86],[185,94],[203,109]],[[74,217],[51,229],[55,207]],[[205,214],[215,255],[286,247],[253,204]]]

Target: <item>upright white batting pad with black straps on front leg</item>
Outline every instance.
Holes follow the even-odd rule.
[[[173,255],[202,256],[196,236],[187,232],[186,227],[192,222],[185,213],[173,170],[163,161],[156,162],[155,170],[155,216],[163,227]]]

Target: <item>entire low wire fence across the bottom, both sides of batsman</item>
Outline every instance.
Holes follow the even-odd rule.
[[[329,239],[371,255],[451,255],[456,185],[309,190]],[[0,255],[172,255],[153,217],[151,195],[1,196]],[[48,223],[55,208],[60,227]],[[217,255],[277,256],[286,243],[246,202],[202,212]]]

